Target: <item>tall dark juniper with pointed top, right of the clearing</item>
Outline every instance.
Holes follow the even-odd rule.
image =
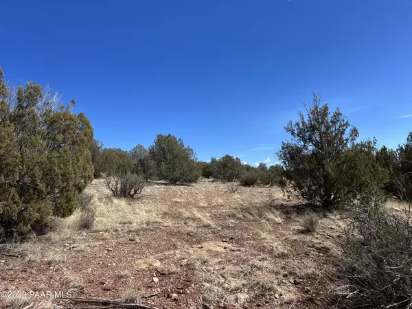
[[[305,107],[299,122],[286,126],[292,139],[278,152],[293,190],[310,203],[335,207],[382,186],[385,177],[376,162],[376,141],[356,144],[358,130],[339,109],[330,113],[315,94]]]

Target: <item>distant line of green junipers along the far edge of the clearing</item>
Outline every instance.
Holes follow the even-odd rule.
[[[226,155],[210,162],[197,161],[194,151],[185,147],[173,135],[157,135],[152,146],[137,145],[130,151],[104,148],[100,141],[91,142],[94,176],[137,174],[146,181],[165,180],[175,183],[194,183],[203,176],[220,181],[239,181],[242,185],[278,185],[284,181],[281,165],[260,163],[258,167],[244,165],[239,158]]]

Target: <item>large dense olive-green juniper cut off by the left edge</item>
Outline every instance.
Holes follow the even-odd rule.
[[[0,230],[26,233],[76,208],[93,179],[93,128],[74,104],[34,82],[8,89],[0,69]]]

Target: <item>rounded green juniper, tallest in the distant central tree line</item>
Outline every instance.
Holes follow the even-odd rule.
[[[150,157],[156,164],[159,179],[170,183],[194,183],[201,176],[196,165],[196,155],[181,139],[173,135],[157,135],[149,148]]]

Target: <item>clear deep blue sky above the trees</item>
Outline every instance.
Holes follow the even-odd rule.
[[[312,90],[363,139],[412,130],[411,0],[16,0],[0,20],[6,78],[76,99],[106,147],[172,133],[198,159],[275,162]]]

